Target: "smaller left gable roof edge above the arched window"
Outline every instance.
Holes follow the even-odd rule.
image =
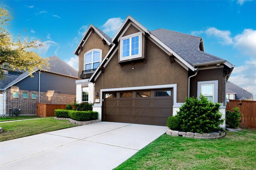
[[[92,24],[88,27],[88,29],[86,30],[86,32],[84,33],[84,36],[82,38],[82,40],[80,41],[80,43],[78,44],[78,46],[76,47],[76,50],[74,51],[74,55],[78,55],[78,52],[80,50],[80,46],[83,46],[87,37],[89,36],[89,34],[91,33],[91,29],[93,29],[102,39],[104,39],[106,41],[106,43],[108,45],[112,45],[112,41],[111,38],[106,35],[103,31],[101,31],[100,29],[98,29],[97,27],[94,27]]]

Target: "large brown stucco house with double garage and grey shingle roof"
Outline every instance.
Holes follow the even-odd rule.
[[[94,103],[102,121],[166,125],[186,97],[221,103],[234,66],[204,52],[202,37],[166,29],[149,31],[128,16],[111,39],[90,25],[79,57],[78,102]]]

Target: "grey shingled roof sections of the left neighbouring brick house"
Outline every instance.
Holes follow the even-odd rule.
[[[64,62],[57,56],[52,56],[48,58],[49,58],[48,63],[50,64],[50,68],[46,72],[52,72],[56,74],[62,74],[64,76],[66,75],[66,76],[77,78],[78,71],[74,69],[72,66],[68,65],[66,62]],[[38,69],[34,70],[34,72],[36,72],[37,70]],[[33,74],[34,72],[32,72],[31,74]],[[5,79],[0,81],[0,89],[9,88],[10,86],[13,86],[17,82],[20,82],[21,80],[28,77],[29,75],[30,74],[28,71],[24,71],[19,76],[5,74],[4,75]]]

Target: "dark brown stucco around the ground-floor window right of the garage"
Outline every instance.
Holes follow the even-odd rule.
[[[197,82],[218,80],[218,102],[223,102],[223,68],[199,70],[198,74],[190,79],[190,97],[197,97]]]

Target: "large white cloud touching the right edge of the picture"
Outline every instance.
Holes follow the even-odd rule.
[[[256,30],[244,29],[234,37],[234,48],[256,59]]]

